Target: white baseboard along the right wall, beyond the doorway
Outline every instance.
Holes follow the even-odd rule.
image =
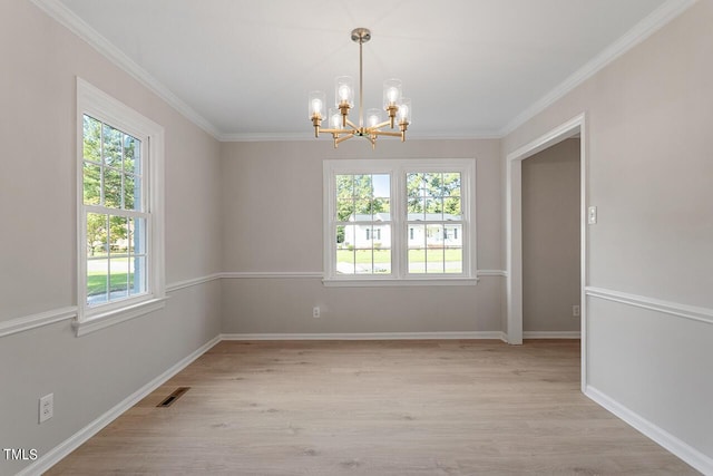
[[[612,397],[603,394],[592,386],[587,386],[585,395],[596,401],[616,417],[626,421],[632,427],[653,439],[678,458],[683,459],[704,475],[713,475],[713,458],[704,455],[686,443],[671,435],[668,431],[652,424],[641,415],[629,410]]]

